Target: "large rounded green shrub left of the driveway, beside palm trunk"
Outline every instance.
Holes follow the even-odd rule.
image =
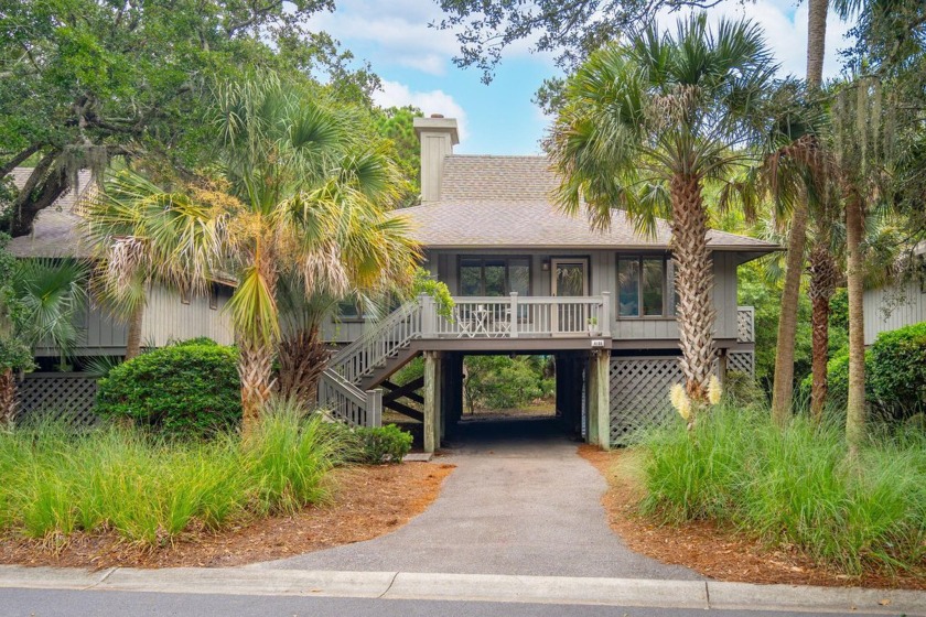
[[[154,349],[99,380],[97,412],[172,436],[202,437],[241,418],[237,351],[196,338]]]

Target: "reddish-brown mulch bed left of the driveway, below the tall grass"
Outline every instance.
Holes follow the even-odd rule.
[[[115,532],[77,533],[61,545],[7,534],[0,563],[103,569],[219,567],[282,559],[389,533],[437,499],[453,465],[405,463],[337,469],[333,504],[293,516],[249,521],[218,532],[184,533],[164,546],[146,548]]]

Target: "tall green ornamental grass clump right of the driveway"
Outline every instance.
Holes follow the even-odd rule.
[[[838,422],[798,415],[778,430],[766,410],[726,404],[692,434],[674,423],[642,447],[642,506],[666,522],[714,520],[853,575],[926,565],[922,431],[875,426],[853,461]]]

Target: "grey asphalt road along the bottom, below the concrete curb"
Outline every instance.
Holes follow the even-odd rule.
[[[558,604],[435,602],[293,596],[235,596],[52,589],[0,589],[2,615],[9,617],[807,617],[807,613],[642,608]],[[840,615],[839,613],[828,613]],[[846,613],[865,617],[863,613]],[[883,614],[882,614],[883,617]]]

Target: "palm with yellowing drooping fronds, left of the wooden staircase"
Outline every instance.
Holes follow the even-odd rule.
[[[273,387],[284,336],[281,281],[298,281],[306,302],[343,297],[384,273],[407,271],[410,279],[417,252],[403,239],[403,221],[387,220],[398,173],[364,141],[349,110],[335,111],[272,75],[227,85],[216,99],[223,180],[236,198],[223,243],[238,282],[228,310],[247,431]],[[309,334],[314,344],[316,333]]]

